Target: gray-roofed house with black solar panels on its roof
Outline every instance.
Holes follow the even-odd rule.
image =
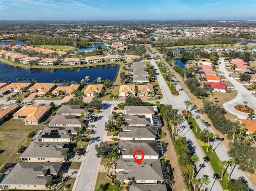
[[[71,142],[79,127],[45,127],[33,136],[35,142]]]

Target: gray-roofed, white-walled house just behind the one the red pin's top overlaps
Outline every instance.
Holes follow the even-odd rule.
[[[159,132],[156,126],[125,126],[119,132],[120,140],[156,140]]]

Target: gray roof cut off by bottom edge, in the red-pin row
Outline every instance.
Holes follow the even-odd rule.
[[[164,184],[132,184],[129,191],[167,191]]]

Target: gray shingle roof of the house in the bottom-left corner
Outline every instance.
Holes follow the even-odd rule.
[[[56,175],[62,163],[20,162],[17,163],[2,185],[44,185],[49,175]]]

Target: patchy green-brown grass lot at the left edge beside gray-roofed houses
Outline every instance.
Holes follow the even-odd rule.
[[[16,163],[20,154],[17,154],[18,148],[30,144],[32,139],[27,138],[32,131],[42,130],[44,122],[38,125],[25,125],[23,120],[10,119],[0,126],[0,168],[6,162]]]

